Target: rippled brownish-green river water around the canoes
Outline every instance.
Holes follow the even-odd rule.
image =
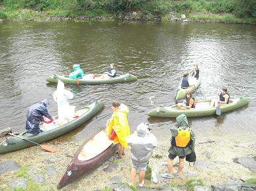
[[[82,142],[111,116],[111,102],[130,108],[131,132],[142,121],[158,140],[169,138],[175,119],[151,119],[159,105],[173,105],[183,72],[198,64],[202,83],[196,99],[215,97],[226,86],[231,98],[246,97],[249,106],[220,117],[189,119],[198,138],[223,136],[255,142],[256,26],[191,22],[0,22],[0,129],[25,128],[26,111],[36,101],[50,99],[48,111],[57,115],[52,98],[56,84],[50,74],[69,74],[74,63],[85,73],[101,73],[115,63],[118,74],[138,81],[97,86],[65,85],[75,95],[71,105],[95,100],[105,108],[91,121],[58,138]]]

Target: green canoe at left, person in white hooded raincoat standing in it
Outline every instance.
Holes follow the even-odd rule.
[[[87,105],[86,107],[77,109],[75,111],[75,115],[77,116],[71,119],[69,123],[65,123],[62,125],[59,125],[58,123],[54,123],[54,122],[50,124],[40,123],[40,128],[44,130],[44,132],[38,134],[37,136],[34,136],[33,134],[26,133],[25,131],[19,134],[18,136],[20,136],[21,138],[26,138],[27,140],[36,142],[38,144],[42,142],[46,142],[48,140],[52,140],[58,136],[62,136],[63,134],[81,126],[86,121],[91,119],[91,117],[96,115],[96,113],[101,111],[103,107],[104,107],[104,103],[100,101],[95,101],[91,105]],[[58,117],[56,117],[56,119],[58,119]],[[30,146],[34,146],[34,144],[27,142],[26,140],[16,138],[14,136],[9,136],[6,140],[4,140],[0,144],[0,154],[21,150],[24,148],[28,148]]]

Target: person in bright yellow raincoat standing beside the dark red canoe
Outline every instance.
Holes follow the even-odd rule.
[[[128,147],[126,137],[130,135],[130,128],[126,116],[129,109],[126,105],[123,103],[120,104],[118,101],[114,101],[111,108],[113,114],[108,124],[108,136],[112,129],[114,129],[116,138],[113,140],[113,143],[118,144],[118,155],[116,157],[122,158],[124,148]]]

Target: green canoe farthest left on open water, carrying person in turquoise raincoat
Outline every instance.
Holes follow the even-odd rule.
[[[138,80],[138,78],[132,74],[123,74],[120,76],[116,76],[115,78],[106,78],[101,79],[102,74],[93,74],[95,78],[90,77],[90,75],[84,75],[83,79],[79,79],[77,83],[77,79],[69,78],[68,76],[60,76],[54,74],[46,78],[47,82],[50,83],[58,83],[58,79],[62,80],[65,84],[87,84],[87,85],[95,85],[95,84],[110,84],[110,83],[118,83],[118,82],[130,82]],[[89,77],[88,77],[89,76]]]

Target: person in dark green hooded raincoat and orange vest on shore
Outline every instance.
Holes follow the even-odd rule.
[[[180,173],[184,167],[184,159],[191,151],[194,151],[195,135],[191,128],[185,114],[181,114],[176,118],[177,126],[171,128],[171,147],[169,148],[169,155],[167,158],[167,173],[161,174],[163,178],[172,178],[172,173],[179,178]],[[179,156],[178,171],[173,172],[173,159]]]

